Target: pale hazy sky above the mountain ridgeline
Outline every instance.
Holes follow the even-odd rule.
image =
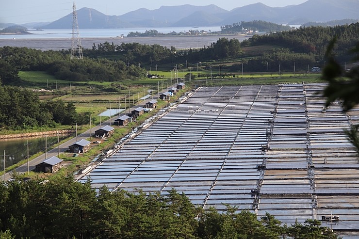
[[[94,8],[107,15],[125,13],[147,8],[158,9],[161,6],[191,4],[204,6],[215,4],[226,10],[262,2],[271,7],[283,7],[300,4],[307,0],[76,0],[76,8]],[[0,23],[49,22],[57,20],[72,11],[73,1],[68,0],[0,0]]]

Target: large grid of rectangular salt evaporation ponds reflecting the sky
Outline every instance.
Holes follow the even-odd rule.
[[[358,161],[343,133],[358,109],[323,109],[324,87],[202,87],[80,181],[163,195],[175,188],[204,208],[229,204],[280,220],[333,213],[358,222]]]

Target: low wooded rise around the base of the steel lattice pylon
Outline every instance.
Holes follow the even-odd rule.
[[[86,57],[71,60],[69,50],[41,51],[32,48],[0,48],[0,80],[3,84],[18,82],[18,71],[46,71],[59,80],[118,81],[145,77],[138,65],[127,66],[120,60]]]

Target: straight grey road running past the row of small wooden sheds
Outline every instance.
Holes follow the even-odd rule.
[[[175,87],[175,86],[170,86],[168,89],[171,89],[172,87]],[[160,93],[160,94],[162,94],[162,93]],[[153,99],[158,99],[158,95],[153,95]],[[152,100],[152,97],[146,99],[146,100],[145,100],[145,104],[146,104],[148,101],[150,101],[150,100]],[[141,100],[141,103],[143,103],[143,100]],[[141,106],[141,105],[140,105],[140,106]],[[143,106],[143,105],[142,105],[142,106]],[[133,111],[133,110],[136,109],[136,108],[138,108],[138,104],[135,105],[135,106],[133,106],[133,107],[131,107],[131,111]],[[120,116],[122,116],[122,115],[125,115],[125,113],[122,113]],[[117,119],[117,118],[118,118],[118,115],[112,117],[112,118],[111,118],[111,122],[113,123],[114,120]],[[110,119],[108,119],[107,121],[101,123],[101,126],[102,126],[102,127],[105,126],[105,125],[110,125]],[[72,144],[74,144],[74,143],[76,143],[76,142],[78,142],[78,141],[80,141],[80,140],[82,140],[82,139],[88,139],[88,138],[90,138],[90,132],[92,132],[92,135],[94,135],[95,131],[98,130],[99,128],[100,128],[99,125],[98,125],[98,126],[95,126],[95,127],[92,127],[92,128],[91,128],[91,131],[90,131],[90,129],[89,129],[89,130],[83,132],[82,134],[78,135],[78,136],[77,136],[77,140],[76,140],[76,137],[74,137],[74,138],[68,140],[67,142],[61,144],[61,145],[60,145],[60,153],[64,153],[64,152],[68,149],[68,146],[70,146],[70,145],[72,145]],[[58,152],[59,152],[59,148],[54,148],[54,149],[49,150],[49,151],[47,152],[47,155],[46,155],[46,154],[42,154],[42,155],[40,155],[39,157],[37,157],[37,158],[31,160],[31,161],[29,162],[29,170],[30,170],[30,171],[33,171],[33,170],[35,169],[35,166],[36,166],[37,164],[41,163],[42,161],[44,161],[44,160],[46,159],[45,156],[47,156],[47,159],[51,158],[52,156],[56,156],[56,157],[57,157],[57,156],[58,156]],[[16,172],[22,173],[22,174],[23,174],[23,173],[26,173],[27,170],[28,170],[28,165],[27,165],[27,163],[25,163],[25,164],[23,164],[23,165],[21,165],[21,166],[19,166],[18,168],[15,169]],[[13,172],[13,171],[10,171],[10,172],[8,172],[8,173],[5,174],[5,181],[7,181],[7,180],[9,180],[9,179],[11,178],[12,172]],[[4,180],[4,175],[1,176],[1,179],[0,179],[0,180]]]

